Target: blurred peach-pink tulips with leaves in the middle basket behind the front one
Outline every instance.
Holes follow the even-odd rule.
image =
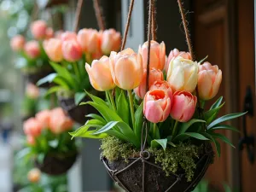
[[[48,93],[57,92],[64,98],[74,97],[78,104],[85,96],[84,89],[92,90],[84,62],[91,63],[111,50],[119,50],[120,33],[114,29],[96,31],[81,29],[76,32],[62,32],[57,38],[44,40],[44,49],[49,56],[55,73],[41,79],[38,84],[54,82]]]

